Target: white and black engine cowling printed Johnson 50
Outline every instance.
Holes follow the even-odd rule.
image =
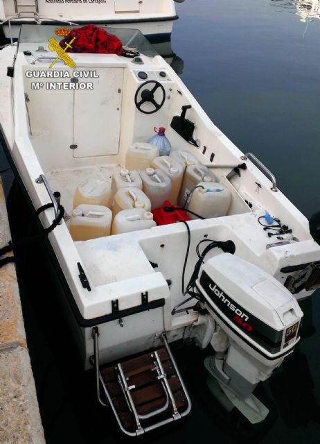
[[[261,268],[223,253],[209,259],[197,288],[231,341],[267,366],[299,341],[303,312],[291,293]]]

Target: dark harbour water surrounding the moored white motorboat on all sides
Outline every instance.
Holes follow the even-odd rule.
[[[190,91],[242,151],[271,169],[306,216],[319,211],[320,1],[186,0],[176,7],[172,50],[184,61],[178,60],[178,70],[183,67]],[[6,168],[2,154],[0,165]],[[3,178],[8,191],[10,172]],[[11,192],[9,210],[18,235],[17,193]],[[39,284],[38,277],[46,276],[41,253],[25,253],[18,270],[47,443],[122,442],[96,402],[93,375],[79,369],[49,276]],[[143,442],[319,442],[319,297],[313,298],[313,316],[311,300],[303,304],[305,337],[298,352],[259,389],[272,411],[264,425],[251,427],[234,413],[226,415],[204,390],[202,365],[191,355],[199,352],[184,349],[176,357],[193,411],[182,425]]]

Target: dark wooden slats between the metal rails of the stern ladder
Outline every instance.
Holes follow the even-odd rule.
[[[177,409],[179,413],[181,413],[186,410],[188,405],[181,382],[175,372],[175,368],[166,348],[159,348],[157,352],[161,359],[163,370],[168,378]],[[148,414],[151,411],[160,409],[164,406],[166,403],[166,395],[161,382],[157,379],[157,372],[154,370],[155,367],[154,362],[152,361],[152,351],[139,357],[129,359],[128,361],[124,361],[121,363],[121,366],[127,377],[128,386],[136,386],[136,388],[132,389],[130,393],[134,405],[136,406],[136,411],[140,415]],[[123,391],[118,383],[116,366],[113,365],[104,368],[101,370],[101,374],[123,427],[130,432],[133,432],[136,429],[134,417],[130,413]],[[161,413],[161,415],[154,416],[149,420],[141,420],[141,425],[142,427],[145,427],[150,425],[150,423],[169,418],[171,415],[171,409],[168,407],[168,409]]]

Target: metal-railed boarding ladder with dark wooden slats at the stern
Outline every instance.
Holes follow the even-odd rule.
[[[99,367],[98,327],[94,327],[98,399],[112,408],[121,430],[138,436],[186,416],[191,402],[166,337],[163,346]],[[103,387],[104,402],[100,396]]]

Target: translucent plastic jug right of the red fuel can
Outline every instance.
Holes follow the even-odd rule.
[[[211,217],[225,216],[231,204],[231,192],[218,182],[200,182],[203,188],[193,191],[188,210],[209,219]],[[191,219],[197,216],[188,213]]]

